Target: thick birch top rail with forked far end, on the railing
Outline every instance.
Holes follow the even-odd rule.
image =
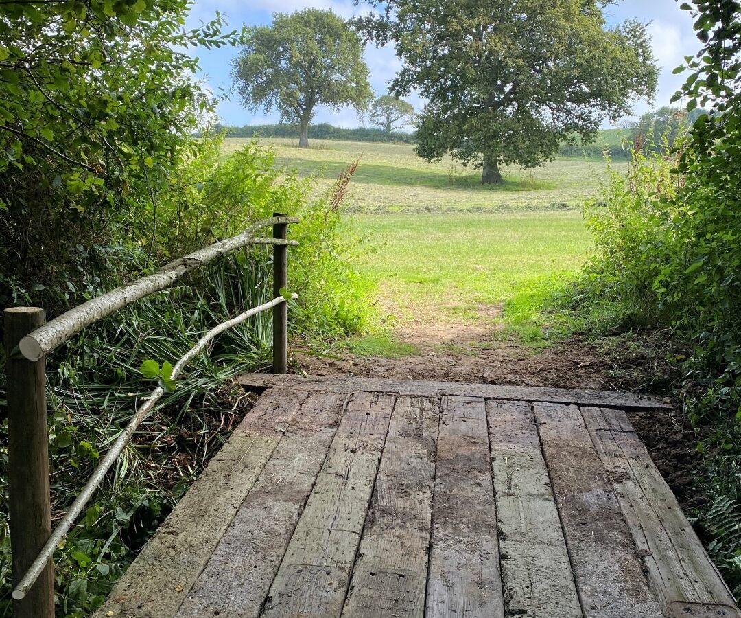
[[[188,272],[236,249],[248,245],[296,246],[298,243],[295,240],[255,236],[255,232],[259,229],[286,223],[299,223],[299,220],[295,217],[263,219],[248,227],[242,234],[213,243],[205,249],[199,249],[199,251],[187,254],[185,257],[173,260],[153,275],[147,275],[147,277],[137,279],[133,283],[127,283],[110,292],[96,296],[96,298],[91,298],[86,303],[70,309],[58,318],[50,320],[44,326],[26,335],[18,344],[19,351],[27,360],[39,361],[47,352],[51,352],[57,346],[62,345],[70,337],[76,335],[86,326],[90,326],[96,320],[105,318],[107,315],[123,309],[125,306],[136,302],[136,300],[141,300],[153,292],[167,289]]]

